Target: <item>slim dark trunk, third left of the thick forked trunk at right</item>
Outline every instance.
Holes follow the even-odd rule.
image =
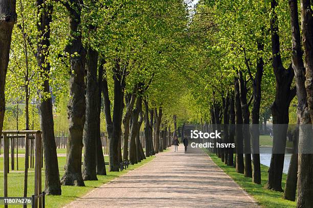
[[[244,173],[243,163],[243,133],[242,133],[242,110],[240,104],[239,81],[235,78],[235,122],[236,122],[236,172]]]

